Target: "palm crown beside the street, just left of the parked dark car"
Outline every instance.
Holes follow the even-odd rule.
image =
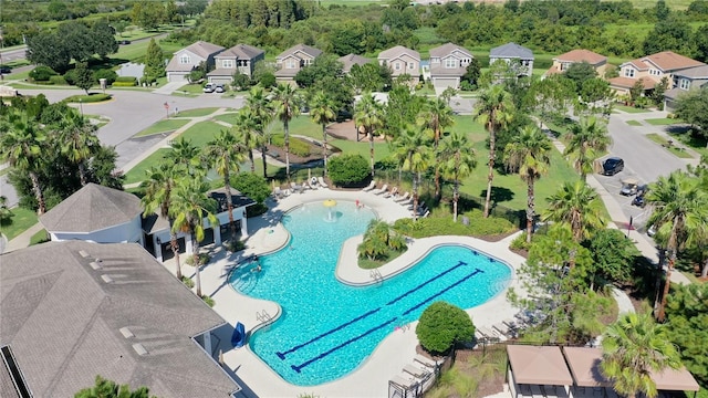
[[[611,139],[607,128],[594,116],[583,117],[566,134],[568,146],[563,155],[573,158],[573,167],[583,181],[593,172],[593,161],[598,153],[607,149]]]

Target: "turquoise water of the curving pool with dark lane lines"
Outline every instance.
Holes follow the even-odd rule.
[[[375,218],[352,202],[340,201],[333,209],[303,205],[282,219],[292,235],[288,247],[260,258],[261,272],[246,264],[229,276],[236,290],[282,306],[280,318],[256,332],[249,344],[287,381],[313,386],[340,378],[389,333],[404,333],[396,328],[416,321],[431,303],[469,308],[509,284],[509,266],[459,245],[438,247],[376,285],[341,283],[334,273],[342,243]]]

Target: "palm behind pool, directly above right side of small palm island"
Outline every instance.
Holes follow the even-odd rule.
[[[418,189],[423,171],[433,164],[430,139],[418,127],[407,125],[396,137],[395,151],[403,161],[403,170],[413,172],[413,219],[418,219]]]

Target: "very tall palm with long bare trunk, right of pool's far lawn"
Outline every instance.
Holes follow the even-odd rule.
[[[511,94],[500,84],[485,90],[475,106],[475,119],[481,122],[489,133],[489,175],[487,176],[487,198],[485,199],[485,217],[489,217],[491,202],[491,184],[494,179],[494,159],[497,133],[506,127],[513,116]]]

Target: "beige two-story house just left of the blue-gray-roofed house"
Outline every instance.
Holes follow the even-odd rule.
[[[435,91],[441,92],[447,87],[459,90],[471,62],[472,54],[457,44],[447,43],[430,49],[430,82]]]

